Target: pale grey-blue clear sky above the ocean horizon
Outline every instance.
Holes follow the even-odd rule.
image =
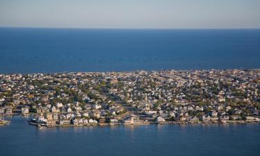
[[[0,26],[260,28],[260,0],[0,0]]]

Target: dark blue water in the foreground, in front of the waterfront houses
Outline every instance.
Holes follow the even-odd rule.
[[[0,155],[234,155],[260,153],[260,124],[36,128],[15,116],[0,127]]]

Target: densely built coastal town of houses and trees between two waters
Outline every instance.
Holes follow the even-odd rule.
[[[260,69],[0,74],[0,125],[259,123],[259,89]]]

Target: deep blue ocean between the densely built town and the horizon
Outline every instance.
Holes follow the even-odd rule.
[[[260,30],[0,28],[0,73],[260,68]]]

